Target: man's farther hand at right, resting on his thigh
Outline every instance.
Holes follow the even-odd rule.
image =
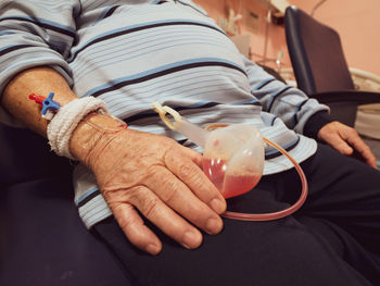
[[[318,138],[342,154],[352,156],[356,151],[368,165],[377,167],[373,153],[354,128],[338,121],[330,122],[320,128]]]

